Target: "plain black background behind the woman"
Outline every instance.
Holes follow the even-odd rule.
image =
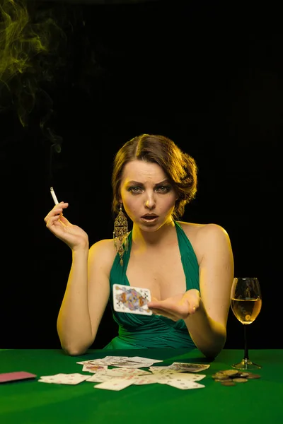
[[[55,4],[44,7],[56,16]],[[262,288],[249,347],[283,348],[279,10],[217,1],[64,7],[83,21],[66,30],[69,65],[45,85],[62,147],[51,177],[51,144],[37,120],[23,129],[13,109],[0,114],[1,348],[59,348],[71,251],[45,228],[50,184],[91,244],[112,237],[112,160],[142,133],[170,137],[197,161],[197,197],[183,220],[226,229],[235,276],[257,276]],[[88,78],[86,36],[96,58]],[[227,329],[226,347],[243,348],[243,326],[231,311]],[[116,332],[108,307],[93,348]]]

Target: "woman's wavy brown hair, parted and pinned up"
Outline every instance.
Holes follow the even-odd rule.
[[[112,211],[119,211],[122,172],[125,165],[132,160],[157,163],[163,169],[178,195],[173,217],[183,216],[185,205],[197,193],[197,164],[194,158],[181,151],[171,139],[153,134],[134,137],[117,151],[112,172]]]

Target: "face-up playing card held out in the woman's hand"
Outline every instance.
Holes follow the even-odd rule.
[[[152,311],[147,307],[147,302],[150,301],[151,293],[147,288],[113,284],[113,307],[116,312],[152,315]]]

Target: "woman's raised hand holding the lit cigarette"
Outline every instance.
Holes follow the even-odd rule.
[[[63,216],[63,210],[69,204],[61,202],[47,213],[44,220],[48,230],[50,230],[59,240],[66,243],[72,250],[87,248],[88,235],[77,225],[73,225]]]

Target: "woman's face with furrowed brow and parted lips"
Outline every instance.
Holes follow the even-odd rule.
[[[172,220],[177,195],[157,163],[144,160],[127,163],[120,194],[127,215],[141,230],[157,230]]]

